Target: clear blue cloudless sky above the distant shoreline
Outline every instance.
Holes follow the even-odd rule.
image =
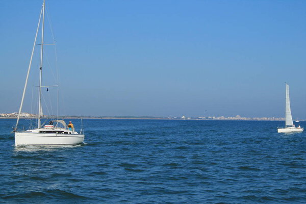
[[[41,4],[0,4],[0,112],[19,108]],[[60,111],[284,117],[288,82],[293,118],[306,118],[305,9],[289,0],[49,0]],[[32,68],[37,77],[37,61]]]

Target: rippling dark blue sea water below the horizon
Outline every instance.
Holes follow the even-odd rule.
[[[15,121],[0,119],[0,202],[306,203],[306,133],[284,122],[86,119],[82,145],[16,148]]]

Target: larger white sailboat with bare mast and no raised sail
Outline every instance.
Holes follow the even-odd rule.
[[[42,17],[42,23],[40,23]],[[67,124],[64,120],[50,120],[48,124],[44,125],[41,124],[41,117],[42,117],[42,106],[41,106],[41,88],[42,86],[42,70],[43,70],[43,37],[44,37],[44,18],[45,18],[45,0],[43,0],[43,4],[41,7],[40,17],[37,25],[34,45],[32,49],[32,54],[30,58],[30,64],[28,68],[27,78],[25,79],[25,84],[23,88],[22,98],[21,98],[21,104],[19,107],[18,112],[18,118],[16,122],[16,126],[14,128],[15,132],[15,146],[28,146],[28,145],[78,145],[81,144],[84,141],[84,133],[82,133],[82,129],[80,133],[74,131],[74,128],[68,128]],[[18,122],[21,115],[22,105],[23,105],[23,99],[25,95],[25,91],[27,89],[27,83],[29,79],[29,73],[31,69],[34,49],[36,46],[36,39],[37,34],[40,28],[41,24],[41,49],[40,49],[40,77],[39,77],[39,97],[38,97],[38,122],[37,127],[34,129],[26,130],[26,131],[19,131],[18,130]]]

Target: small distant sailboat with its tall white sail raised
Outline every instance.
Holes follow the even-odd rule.
[[[286,83],[286,124],[285,128],[278,128],[278,133],[291,133],[291,132],[303,132],[303,128],[298,126],[295,127],[292,120],[291,109],[290,109],[290,98],[289,98],[289,85]]]

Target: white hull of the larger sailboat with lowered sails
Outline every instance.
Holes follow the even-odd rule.
[[[15,146],[27,145],[77,145],[84,141],[81,134],[57,134],[57,133],[15,133]]]

